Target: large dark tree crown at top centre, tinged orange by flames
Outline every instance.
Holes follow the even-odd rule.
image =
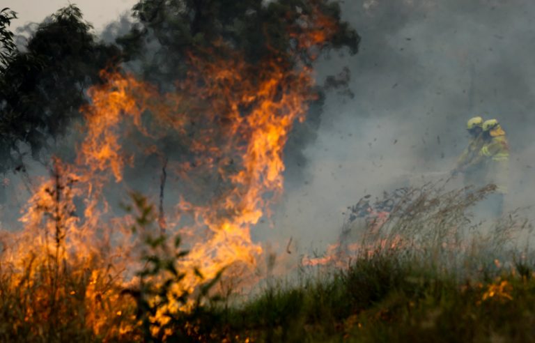
[[[136,61],[130,63],[132,70],[164,90],[185,77],[189,55],[225,63],[238,52],[252,66],[265,68],[265,61],[277,61],[278,68],[289,71],[300,63],[311,66],[329,49],[345,47],[356,54],[360,42],[357,32],[341,20],[337,1],[141,0],[133,10],[139,22],[116,41],[125,61]],[[316,48],[300,46],[298,35],[307,29],[303,18],[318,15],[336,26],[332,37]],[[318,29],[329,30],[327,25]],[[339,86],[348,81],[349,77]],[[286,176],[296,180],[302,179],[307,162],[302,150],[316,137],[323,112],[325,91],[320,86],[315,91],[317,100],[309,104],[306,120],[295,125],[286,144]]]

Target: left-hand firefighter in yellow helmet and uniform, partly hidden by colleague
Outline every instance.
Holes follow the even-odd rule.
[[[457,160],[457,165],[452,175],[463,174],[463,181],[467,192],[474,187],[485,185],[485,163],[479,158],[479,152],[483,148],[483,118],[475,116],[466,123],[466,129],[470,135],[470,142]],[[479,160],[476,162],[476,160]]]

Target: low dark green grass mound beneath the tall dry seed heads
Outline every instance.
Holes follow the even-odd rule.
[[[224,310],[219,330],[252,342],[533,342],[535,280],[528,268],[458,280],[390,251],[329,280],[265,289]]]

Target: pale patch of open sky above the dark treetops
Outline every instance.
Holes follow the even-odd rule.
[[[14,28],[28,22],[42,22],[48,15],[69,3],[76,4],[84,18],[100,32],[109,22],[116,20],[125,11],[130,10],[137,0],[0,0],[0,7],[9,7],[17,12]]]

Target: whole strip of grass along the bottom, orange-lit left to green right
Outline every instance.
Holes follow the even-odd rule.
[[[0,341],[532,342],[535,254],[515,245],[531,226],[518,213],[474,222],[467,209],[488,191],[396,194],[381,227],[344,225],[330,264],[300,266],[297,282],[270,278],[241,301],[218,296],[219,279],[171,299],[187,252],[164,236],[145,236],[128,287],[105,250],[68,259],[56,239],[17,263],[4,252]],[[139,196],[134,205],[137,231],[150,231],[152,207]],[[68,236],[66,226],[52,229]],[[171,300],[190,310],[167,311]]]

